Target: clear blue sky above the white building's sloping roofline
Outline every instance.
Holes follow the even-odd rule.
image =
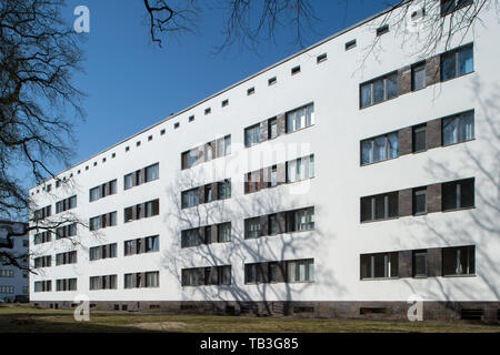
[[[308,32],[306,45],[324,39],[388,7],[388,0],[313,0],[319,20]],[[90,33],[82,48],[84,74],[74,84],[88,97],[82,106],[87,120],[76,126],[78,163],[138,131],[178,112],[300,48],[290,31],[277,32],[277,43],[261,43],[259,51],[232,47],[214,55],[221,44],[222,9],[201,14],[198,33],[184,33],[163,48],[150,43],[141,0],[69,0],[63,11],[70,23],[73,9],[90,10]],[[63,166],[53,166],[60,171]]]

